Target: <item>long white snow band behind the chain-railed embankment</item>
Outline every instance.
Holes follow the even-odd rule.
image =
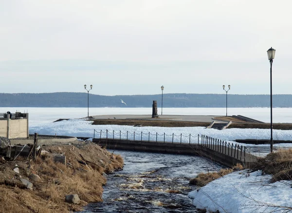
[[[85,119],[70,119],[68,121],[63,120],[55,123],[42,123],[30,125],[30,134],[37,132],[38,134],[45,135],[67,135],[75,137],[90,137],[93,138],[93,132],[95,129],[95,137],[100,137],[100,131],[102,131],[102,137],[106,137],[106,130],[108,130],[108,138],[114,137],[133,139],[135,132],[135,140],[141,140],[141,132],[143,132],[143,140],[148,140],[150,132],[150,140],[156,140],[156,132],[158,134],[158,141],[172,141],[172,134],[174,134],[174,142],[180,142],[182,134],[182,142],[189,142],[189,135],[191,134],[191,142],[198,142],[198,135],[206,135],[209,137],[217,138],[227,142],[233,142],[236,139],[270,139],[269,129],[238,129],[231,128],[225,130],[206,129],[205,127],[156,127],[156,126],[126,126],[126,125],[91,125],[91,121]],[[292,130],[274,130],[274,140],[292,140]],[[200,139],[201,140],[201,139]],[[253,144],[241,144],[246,146],[254,146]],[[269,144],[261,145],[269,146]],[[280,143],[275,144],[275,147],[290,147],[292,144]]]

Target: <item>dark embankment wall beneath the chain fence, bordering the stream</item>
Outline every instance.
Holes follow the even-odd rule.
[[[205,146],[198,144],[188,143],[171,143],[171,142],[139,142],[139,141],[127,141],[127,140],[113,140],[113,139],[93,139],[92,140],[99,145],[106,146],[108,149],[121,149],[121,150],[133,150],[143,152],[158,152],[158,153],[171,153],[181,155],[198,155],[205,157],[209,160],[219,162],[222,165],[232,167],[242,161],[216,152]]]

